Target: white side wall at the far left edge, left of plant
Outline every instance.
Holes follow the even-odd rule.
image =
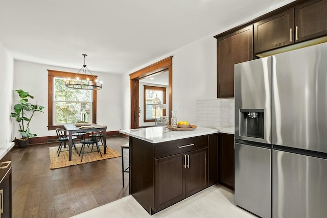
[[[1,93],[1,107],[0,107],[0,144],[10,142],[14,139],[12,135],[12,98],[13,98],[13,75],[14,75],[14,59],[0,42],[0,93]]]

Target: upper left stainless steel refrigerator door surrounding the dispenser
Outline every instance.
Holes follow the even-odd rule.
[[[240,109],[264,109],[264,139],[240,135]],[[235,64],[235,138],[271,143],[271,57]]]

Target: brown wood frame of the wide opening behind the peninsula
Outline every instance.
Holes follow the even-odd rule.
[[[130,80],[130,96],[131,96],[131,114],[130,114],[130,128],[138,128],[138,101],[139,101],[139,80],[156,74],[157,72],[168,69],[168,111],[169,117],[173,109],[173,56],[162,59],[147,67],[139,69],[129,75]]]

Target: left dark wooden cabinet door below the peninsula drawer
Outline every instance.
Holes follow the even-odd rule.
[[[185,198],[185,158],[176,154],[155,160],[155,210]]]

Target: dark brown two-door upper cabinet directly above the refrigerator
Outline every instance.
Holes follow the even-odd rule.
[[[312,0],[254,23],[254,54],[327,34],[327,0]]]

